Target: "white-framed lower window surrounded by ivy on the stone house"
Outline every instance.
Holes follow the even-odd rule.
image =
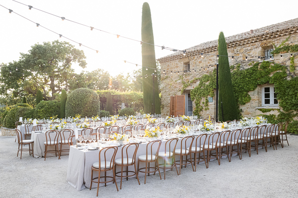
[[[262,87],[262,106],[278,106],[273,85],[266,85]]]

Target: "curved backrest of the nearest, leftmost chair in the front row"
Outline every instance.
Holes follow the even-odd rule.
[[[105,169],[105,170],[112,170],[114,167],[117,151],[118,151],[118,147],[106,147],[106,148],[100,149],[98,153],[99,168]],[[101,162],[104,162],[103,163],[104,167],[102,166]]]

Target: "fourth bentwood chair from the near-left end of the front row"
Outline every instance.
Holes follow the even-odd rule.
[[[164,179],[165,179],[165,169],[169,169],[169,168],[173,169],[175,167],[176,171],[177,171],[177,175],[179,175],[176,161],[175,161],[175,155],[173,154],[173,151],[175,151],[175,149],[176,149],[177,142],[178,142],[178,138],[169,139],[168,141],[166,141],[166,143],[164,145],[164,151],[158,152],[157,166],[158,166],[158,168],[163,169]],[[159,159],[160,159],[160,161],[159,161]],[[161,163],[161,160],[163,161],[163,163]]]

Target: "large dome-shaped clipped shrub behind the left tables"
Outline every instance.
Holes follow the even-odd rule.
[[[99,114],[100,101],[98,95],[88,88],[79,88],[72,91],[66,100],[65,114],[74,117],[92,117]]]

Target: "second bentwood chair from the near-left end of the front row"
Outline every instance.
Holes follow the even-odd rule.
[[[130,144],[127,144],[127,145],[123,146],[122,147],[122,157],[115,160],[115,170],[114,171],[116,172],[116,167],[117,166],[121,167],[121,171],[115,173],[116,177],[121,178],[120,190],[122,189],[122,179],[123,179],[123,177],[125,177],[126,180],[128,180],[129,177],[132,177],[132,176],[136,175],[137,180],[138,180],[139,185],[140,185],[140,180],[139,180],[139,177],[138,177],[138,172],[137,172],[137,167],[136,167],[136,156],[137,156],[138,148],[139,148],[138,143],[130,143]],[[129,166],[134,166],[135,171],[128,170]],[[123,170],[124,167],[126,167],[126,170]],[[126,173],[126,175],[124,175],[124,173]],[[129,175],[128,173],[132,173],[132,174]]]

